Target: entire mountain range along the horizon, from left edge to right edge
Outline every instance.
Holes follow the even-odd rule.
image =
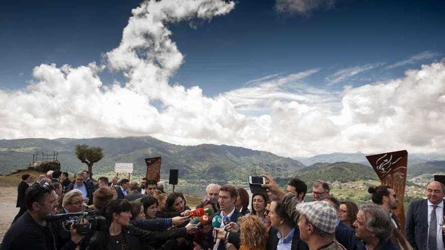
[[[252,149],[201,144],[183,146],[170,144],[154,137],[90,138],[90,139],[43,139],[26,138],[0,140],[0,174],[26,168],[33,154],[58,152],[62,170],[77,172],[86,168],[74,154],[76,144],[88,144],[103,148],[105,157],[93,167],[94,173],[112,173],[115,162],[132,162],[134,175],[145,175],[145,158],[162,157],[161,177],[168,178],[170,169],[179,169],[180,178],[227,182],[247,180],[249,175],[270,173],[287,181],[293,177],[310,183],[316,179],[327,181],[355,181],[376,179],[365,154],[333,153],[310,158],[286,158]],[[41,153],[38,154],[40,159]],[[408,174],[434,174],[445,172],[444,155],[409,154]],[[284,183],[284,182],[283,182]]]

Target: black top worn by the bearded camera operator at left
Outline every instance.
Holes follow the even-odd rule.
[[[11,225],[3,238],[1,250],[54,250],[59,242],[58,234],[51,223],[43,227],[25,212]],[[69,239],[60,250],[74,250],[76,244]]]

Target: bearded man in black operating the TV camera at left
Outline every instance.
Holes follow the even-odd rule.
[[[54,214],[57,207],[54,186],[48,183],[30,187],[25,195],[27,211],[8,229],[1,250],[74,250],[83,239],[75,230],[61,248],[56,248],[58,237],[51,223],[44,219]]]

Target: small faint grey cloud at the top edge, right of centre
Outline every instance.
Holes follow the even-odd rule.
[[[317,9],[331,9],[334,0],[276,0],[275,8],[278,12],[289,15],[306,16]]]

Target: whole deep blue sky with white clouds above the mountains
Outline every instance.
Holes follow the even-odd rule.
[[[3,1],[0,139],[445,150],[445,2]]]

